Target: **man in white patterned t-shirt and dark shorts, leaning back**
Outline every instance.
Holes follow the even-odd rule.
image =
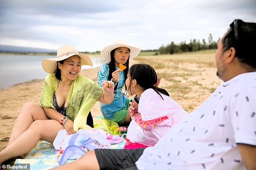
[[[223,83],[153,147],[94,150],[57,168],[256,169],[256,23],[234,20],[215,59]]]

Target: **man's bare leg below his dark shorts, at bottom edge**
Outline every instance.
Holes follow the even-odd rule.
[[[76,161],[64,164],[62,166],[57,166],[53,170],[99,170],[99,163],[95,156],[94,150],[89,151],[84,156]]]

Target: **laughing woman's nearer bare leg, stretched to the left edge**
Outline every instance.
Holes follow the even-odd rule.
[[[2,162],[29,152],[39,140],[53,142],[64,127],[56,120],[36,120],[17,139],[0,152]]]

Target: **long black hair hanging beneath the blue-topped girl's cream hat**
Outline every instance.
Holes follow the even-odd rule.
[[[116,48],[117,49],[117,48]],[[111,57],[111,60],[110,60],[110,63],[109,63],[109,76],[108,76],[108,80],[110,81],[111,78],[112,78],[112,73],[116,70],[115,69],[115,50],[116,49],[113,49],[111,52],[110,52],[110,57]],[[129,53],[130,53],[130,49],[129,49]],[[129,58],[130,58],[130,55],[126,61],[126,63],[124,64],[124,66],[126,66],[127,69],[124,69],[124,80],[127,79],[127,74],[128,74],[128,68],[129,68]],[[118,82],[114,88],[114,92],[116,93],[116,89],[118,87]],[[127,91],[127,87],[126,87],[126,84],[124,83],[124,87],[125,87],[125,91]]]

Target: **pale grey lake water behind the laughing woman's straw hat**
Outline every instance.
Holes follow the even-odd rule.
[[[48,73],[42,68],[42,60],[53,55],[0,55],[0,89],[34,79],[44,79]],[[82,66],[82,70],[104,64],[102,57],[91,57],[93,67]]]

